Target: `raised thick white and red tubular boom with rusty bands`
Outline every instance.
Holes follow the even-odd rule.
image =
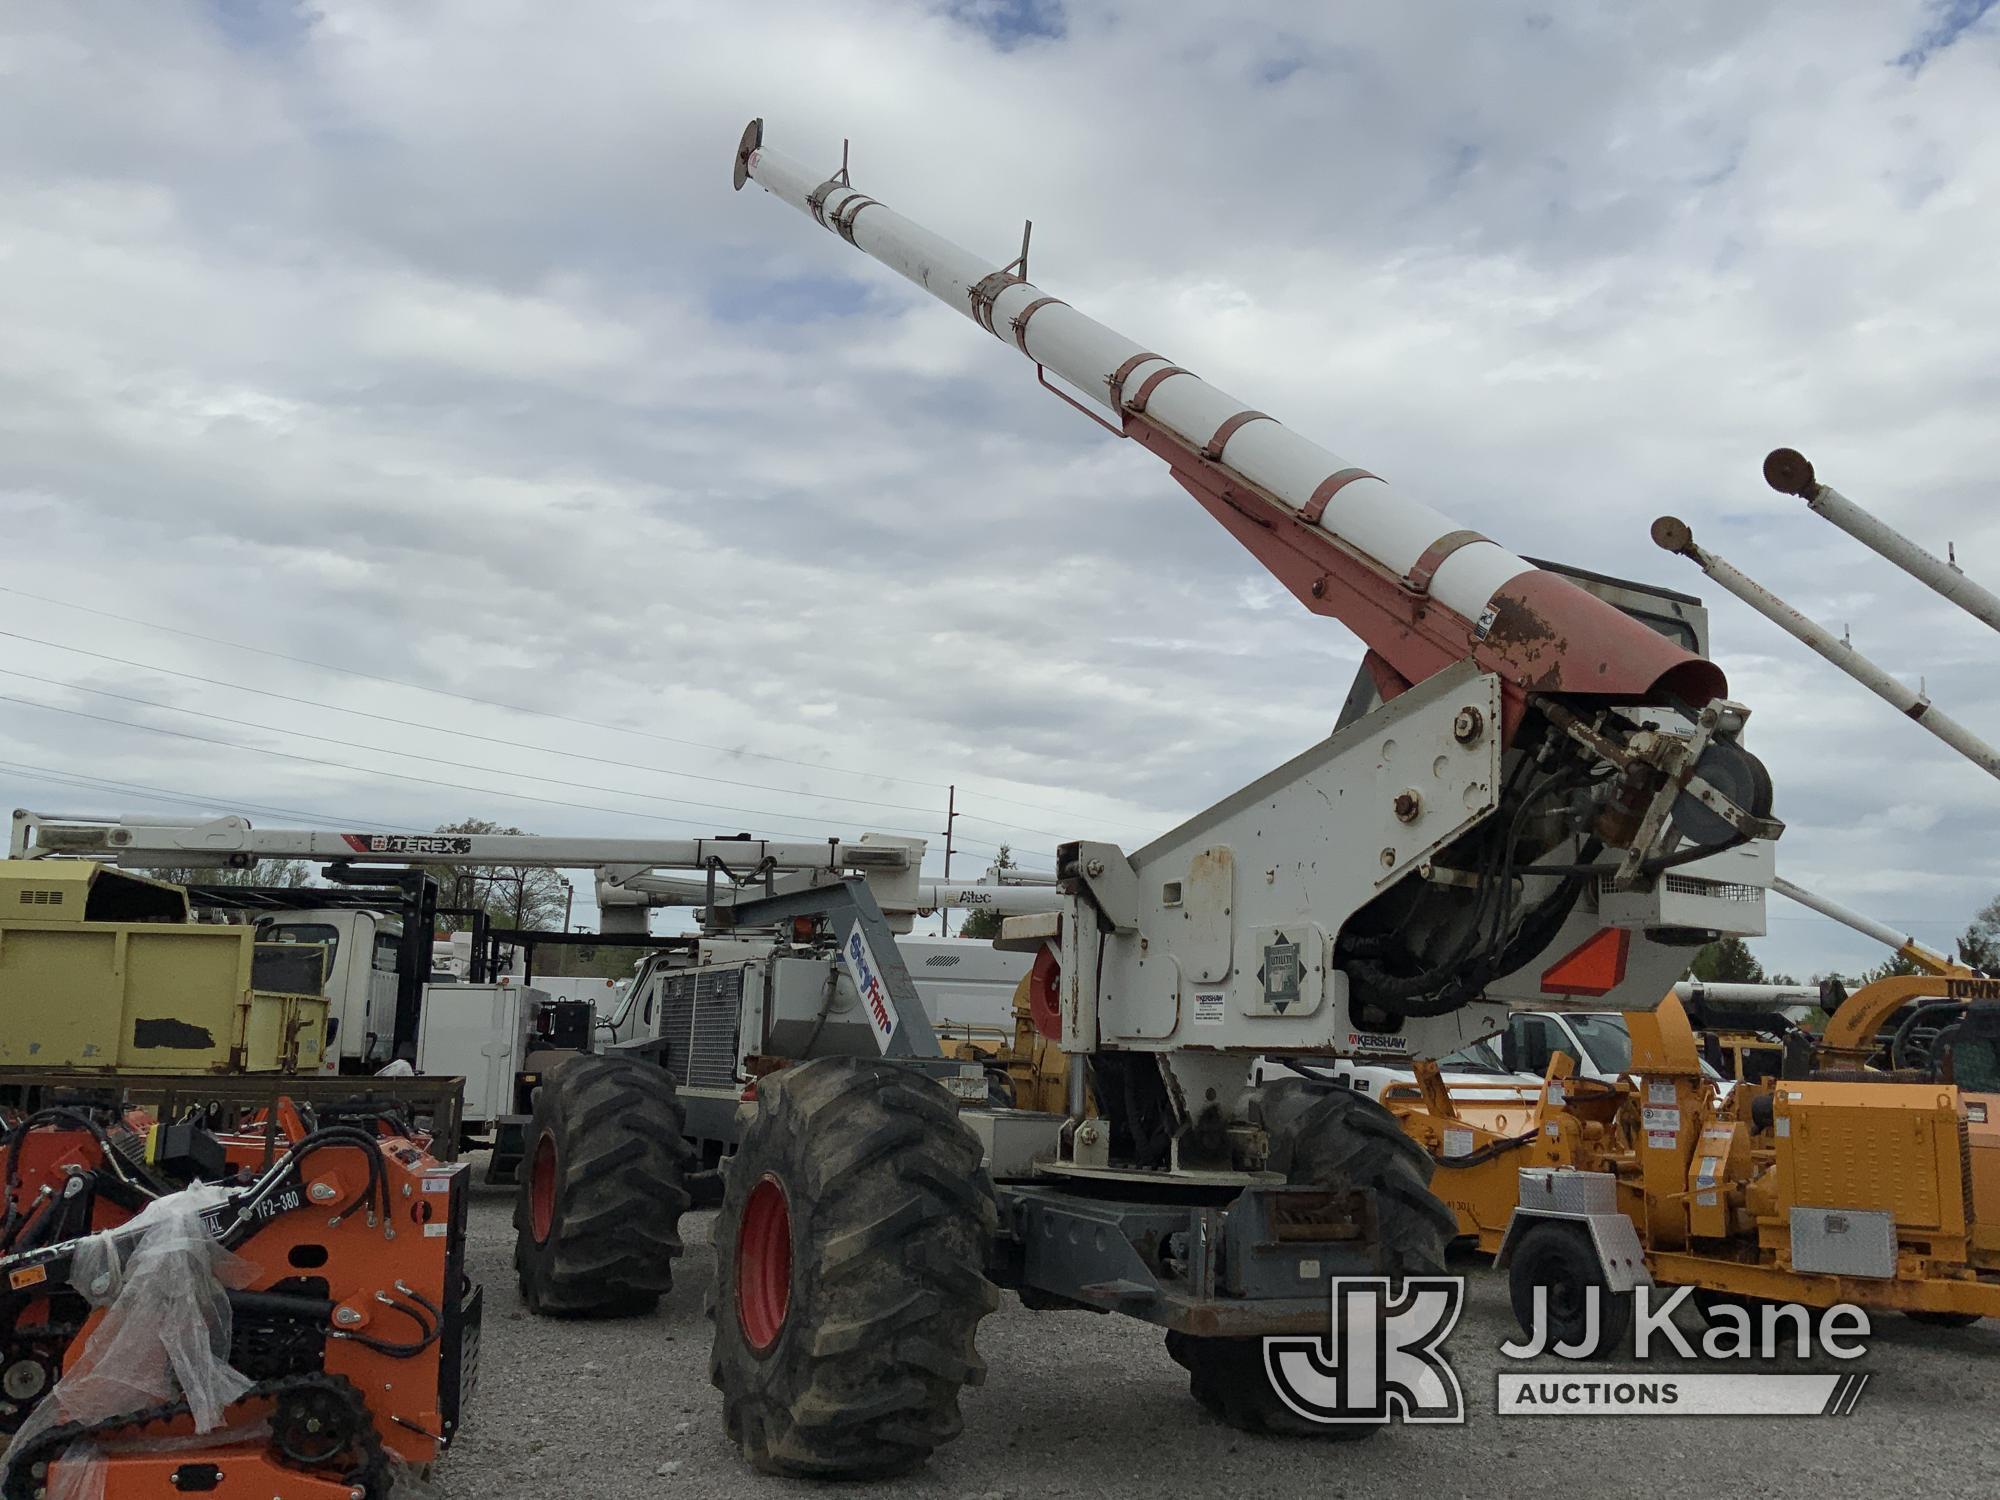
[[[846,166],[828,178],[770,150],[762,120],[738,150],[744,182],[1102,404],[1098,420],[1164,458],[1308,610],[1370,646],[1384,698],[1466,658],[1500,676],[1508,730],[1528,694],[1690,708],[1726,694],[1712,662],[1034,286],[1026,242],[994,266],[858,192]]]

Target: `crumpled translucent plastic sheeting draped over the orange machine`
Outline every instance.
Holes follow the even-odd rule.
[[[108,1422],[164,1402],[186,1402],[198,1434],[222,1426],[228,1406],[250,1388],[228,1362],[230,1286],[246,1286],[248,1262],[224,1250],[202,1214],[226,1188],[196,1184],[150,1202],[132,1222],[78,1244],[70,1284],[104,1318],[56,1388],[28,1414],[0,1456],[14,1454],[50,1426]],[[170,1446],[172,1438],[148,1446]],[[130,1442],[110,1440],[114,1448]],[[104,1468],[78,1444],[56,1468],[48,1500],[102,1500]]]

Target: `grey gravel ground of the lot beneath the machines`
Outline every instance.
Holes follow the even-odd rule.
[[[478,1162],[484,1168],[484,1162]],[[480,1388],[436,1470],[452,1500],[802,1496],[820,1486],[750,1472],[708,1384],[714,1214],[684,1220],[674,1294],[634,1322],[530,1318],[514,1288],[512,1190],[474,1188],[472,1268],[486,1282]],[[1130,1318],[1034,1314],[1012,1298],[980,1326],[986,1384],[966,1430],[918,1474],[870,1494],[1524,1496],[1556,1486],[1622,1496],[1978,1496],[1996,1492],[2000,1328],[1880,1320],[1848,1418],[1498,1418],[1498,1346],[1516,1334],[1506,1286],[1478,1260],[1450,1354],[1464,1428],[1398,1428],[1360,1444],[1250,1438],[1186,1394],[1160,1334]],[[1556,1362],[1560,1364],[1560,1362]],[[840,1490],[836,1490],[840,1492]],[[854,1488],[846,1488],[854,1494]]]

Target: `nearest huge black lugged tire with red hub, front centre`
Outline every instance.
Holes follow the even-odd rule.
[[[818,1058],[758,1084],[716,1220],[710,1380],[754,1468],[880,1478],[958,1436],[998,1292],[992,1184],[952,1098]]]

